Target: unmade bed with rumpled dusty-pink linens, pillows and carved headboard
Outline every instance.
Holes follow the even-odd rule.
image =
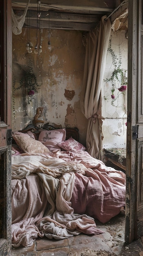
[[[12,137],[13,247],[101,234],[96,219],[108,222],[125,207],[125,173],[91,157],[77,128],[37,120]]]

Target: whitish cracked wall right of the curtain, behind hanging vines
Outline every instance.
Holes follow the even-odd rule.
[[[111,32],[112,49],[119,58],[119,45],[121,50],[121,68],[128,69],[128,40],[125,38],[124,31]],[[112,58],[110,53],[107,54],[106,70],[104,79],[110,78],[112,71]],[[126,130],[127,121],[127,90],[119,95],[119,98],[114,101],[114,106],[111,104],[111,81],[106,83],[103,81],[102,94],[102,133],[103,141],[102,148],[126,148]],[[129,86],[128,86],[129,90]],[[116,90],[117,92],[117,90]],[[116,92],[114,94],[116,95]],[[117,95],[116,95],[117,96]],[[116,97],[115,96],[115,97]]]

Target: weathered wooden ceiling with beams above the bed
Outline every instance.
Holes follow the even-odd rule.
[[[38,7],[41,13],[40,28],[89,31],[97,26],[103,15],[109,16],[118,2],[120,0],[66,0],[61,4],[61,0],[56,0],[56,3],[55,0],[42,0],[40,8]],[[21,16],[26,4],[27,0],[12,0],[15,14]],[[110,17],[111,20],[114,19],[114,15]],[[36,0],[29,3],[24,27],[37,27]]]

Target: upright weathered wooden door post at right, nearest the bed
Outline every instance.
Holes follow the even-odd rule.
[[[137,208],[138,198],[138,155],[137,139],[132,139],[133,126],[138,126],[137,99],[140,72],[139,20],[141,0],[128,0],[128,126],[126,157],[126,207],[125,241],[131,243],[138,238]],[[138,17],[139,16],[139,17]],[[141,95],[139,95],[141,97]]]

